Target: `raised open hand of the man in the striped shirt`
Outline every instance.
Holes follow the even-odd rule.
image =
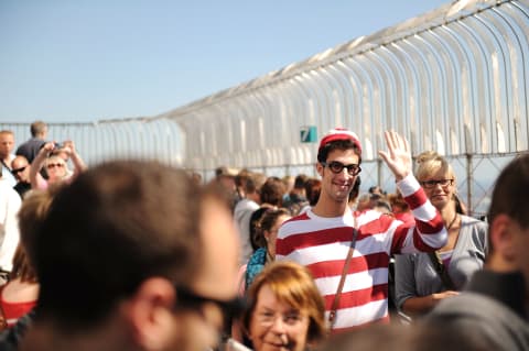
[[[406,178],[411,173],[411,152],[408,141],[396,131],[384,133],[388,152],[379,151],[378,154],[395,175],[396,180]]]

